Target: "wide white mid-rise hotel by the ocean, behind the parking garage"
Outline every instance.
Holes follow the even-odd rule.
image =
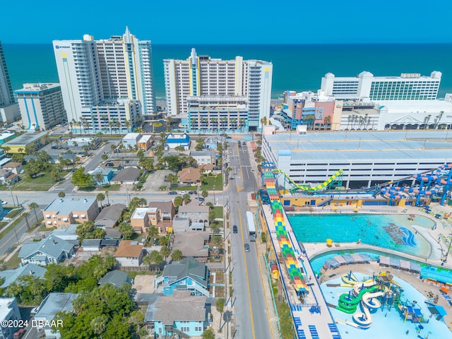
[[[336,77],[326,73],[321,90],[325,95],[345,100],[435,100],[441,83],[441,72],[430,76],[402,73],[400,76],[374,76],[364,71],[356,77]]]

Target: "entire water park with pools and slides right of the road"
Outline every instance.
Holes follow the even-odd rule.
[[[452,338],[452,165],[415,174],[415,188],[400,181],[360,192],[342,188],[342,171],[303,185],[270,162],[262,168],[272,277],[284,287],[297,338]]]

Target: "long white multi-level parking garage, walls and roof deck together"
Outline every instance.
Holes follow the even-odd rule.
[[[447,131],[337,131],[263,134],[262,155],[297,184],[343,170],[345,187],[412,179],[450,162]],[[280,177],[283,181],[283,177]]]

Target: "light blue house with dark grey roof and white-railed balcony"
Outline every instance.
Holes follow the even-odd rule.
[[[164,295],[172,295],[174,290],[189,290],[210,297],[209,275],[205,263],[189,256],[165,266],[163,274],[154,280],[154,289],[162,284]]]

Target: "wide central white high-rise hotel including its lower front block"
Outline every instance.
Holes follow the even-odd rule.
[[[190,115],[203,115],[198,119],[207,119],[190,125],[191,129],[198,131],[201,122],[207,122],[202,129],[213,131],[220,127],[218,121],[225,121],[224,118],[230,129],[241,129],[239,121],[244,118],[237,112],[247,112],[248,129],[256,131],[261,129],[261,119],[269,118],[273,72],[270,62],[244,60],[243,57],[213,59],[198,56],[196,50],[191,49],[188,59],[165,59],[163,64],[167,113],[172,117],[187,117],[191,112]],[[218,100],[218,97],[225,100]],[[236,104],[232,103],[234,97],[237,97]],[[228,109],[229,115],[226,114]]]

